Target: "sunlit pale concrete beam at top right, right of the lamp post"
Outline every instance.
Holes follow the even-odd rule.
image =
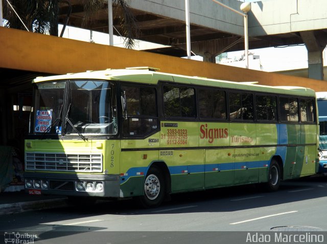
[[[249,36],[327,28],[325,0],[274,0],[251,3]]]

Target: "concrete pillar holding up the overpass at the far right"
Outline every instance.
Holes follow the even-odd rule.
[[[308,78],[323,80],[322,51],[327,45],[327,35],[316,36],[314,31],[300,32],[308,50]]]

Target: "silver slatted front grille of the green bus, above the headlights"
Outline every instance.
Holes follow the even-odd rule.
[[[102,172],[102,154],[25,153],[26,170]]]

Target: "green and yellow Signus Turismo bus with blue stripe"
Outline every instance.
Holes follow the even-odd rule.
[[[160,73],[88,71],[33,81],[30,194],[135,197],[316,173],[315,92]]]

